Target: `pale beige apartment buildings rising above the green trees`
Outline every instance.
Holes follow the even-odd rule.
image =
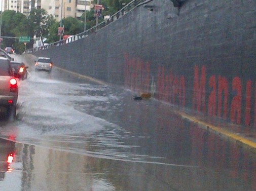
[[[2,9],[14,10],[29,15],[35,9],[45,9],[57,21],[65,17],[80,18],[84,11],[90,11],[92,0],[3,0]]]

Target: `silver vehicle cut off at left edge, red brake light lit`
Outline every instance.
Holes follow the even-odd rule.
[[[18,91],[10,60],[0,57],[0,112],[10,120],[16,116]]]

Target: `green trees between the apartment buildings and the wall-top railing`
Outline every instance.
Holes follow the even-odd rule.
[[[98,0],[100,5],[103,5],[104,10],[102,16],[98,18],[98,23],[103,21],[103,16],[113,15],[132,0]],[[97,0],[94,0],[97,4]],[[74,35],[84,31],[84,18],[79,19],[67,17],[62,19],[64,25],[64,35]],[[94,9],[86,12],[86,29],[96,25],[96,17]],[[60,22],[57,22],[52,15],[48,15],[44,9],[32,9],[28,18],[21,13],[15,11],[4,11],[2,13],[2,36],[13,36],[15,38],[4,38],[1,48],[13,47],[16,53],[22,53],[25,50],[25,45],[19,42],[19,36],[30,36],[31,41],[27,43],[26,48],[32,48],[33,36],[46,37],[47,43],[53,43],[59,40],[58,27]]]

